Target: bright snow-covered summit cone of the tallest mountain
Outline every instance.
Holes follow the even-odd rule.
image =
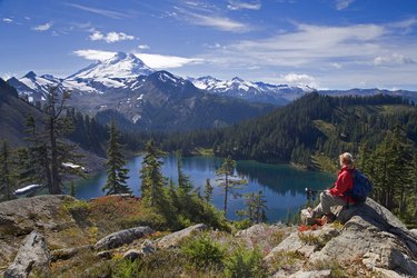
[[[146,66],[142,60],[132,53],[117,52],[106,61],[98,61],[69,76],[67,80],[106,79],[106,78],[136,78],[149,76],[155,70]]]

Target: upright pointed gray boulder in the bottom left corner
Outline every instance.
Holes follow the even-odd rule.
[[[32,231],[24,238],[13,264],[4,272],[4,278],[28,277],[32,269],[49,271],[50,255],[42,235]]]

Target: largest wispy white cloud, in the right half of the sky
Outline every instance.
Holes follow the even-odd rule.
[[[264,40],[245,40],[212,49],[206,58],[224,64],[304,67],[317,62],[369,61],[380,50],[385,27],[297,24],[297,30]],[[345,62],[346,61],[346,62]],[[324,66],[324,64],[320,64]],[[327,67],[326,66],[326,67]]]

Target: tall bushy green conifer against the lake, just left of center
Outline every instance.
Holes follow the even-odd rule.
[[[163,153],[153,146],[153,141],[148,141],[145,150],[140,169],[142,199],[150,207],[162,208],[167,183],[167,178],[162,176]]]

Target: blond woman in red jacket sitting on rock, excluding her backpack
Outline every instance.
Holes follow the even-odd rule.
[[[315,209],[311,210],[311,208],[308,208],[308,212],[310,214],[308,218],[310,219],[307,219],[307,222],[309,224],[322,216],[324,222],[332,222],[336,219],[336,215],[331,212],[331,207],[345,206],[347,202],[355,203],[350,197],[345,196],[345,192],[354,186],[354,157],[349,152],[345,152],[339,156],[339,160],[340,170],[334,187],[320,193],[320,203]]]

